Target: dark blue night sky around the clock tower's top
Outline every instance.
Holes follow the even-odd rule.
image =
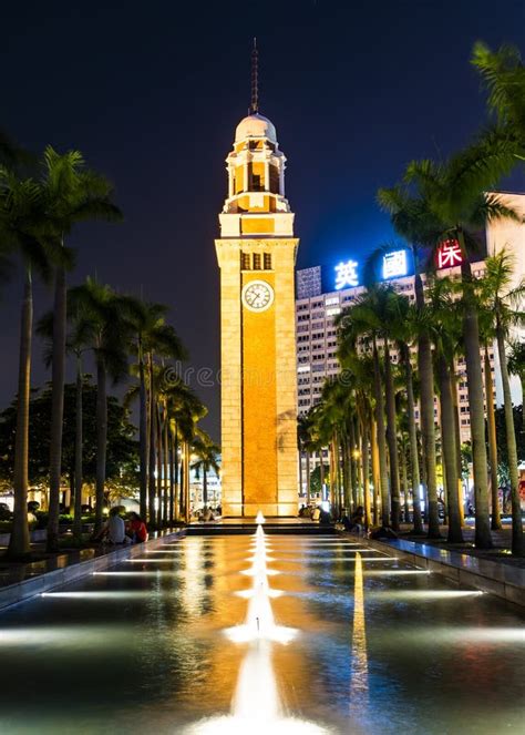
[[[125,222],[73,234],[71,280],[96,274],[168,304],[192,366],[216,370],[214,237],[253,37],[306,267],[392,239],[377,188],[469,140],[485,119],[472,44],[523,45],[524,28],[522,0],[20,0],[2,8],[0,126],[34,151],[79,149],[115,184]],[[0,303],[0,408],[16,390],[20,290],[14,279]],[[38,288],[35,316],[50,304]],[[37,341],[33,385],[47,378]],[[199,392],[218,439],[219,390]]]

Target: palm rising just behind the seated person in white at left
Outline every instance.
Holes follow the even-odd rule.
[[[102,527],[107,448],[107,378],[117,382],[127,375],[130,325],[125,320],[120,296],[110,288],[86,278],[69,290],[73,313],[82,314],[84,340],[93,351],[96,365],[96,479],[95,532]],[[52,529],[54,533],[54,529]]]

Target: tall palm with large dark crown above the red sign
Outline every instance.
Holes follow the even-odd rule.
[[[413,161],[409,164],[405,183],[415,190],[415,200],[426,222],[439,225],[441,233],[433,238],[433,246],[443,239],[457,242],[462,253],[462,302],[463,340],[465,346],[469,404],[471,410],[471,435],[473,445],[474,486],[476,498],[476,545],[491,548],[492,538],[488,518],[488,484],[485,452],[485,419],[483,377],[480,364],[480,334],[475,287],[470,258],[476,249],[471,232],[502,217],[518,220],[518,215],[506,206],[494,190],[498,178],[515,164],[514,143],[501,136],[487,134],[465,151],[449,161],[436,164],[432,161]],[[423,386],[421,375],[422,411]],[[424,430],[424,428],[423,428]],[[430,479],[430,472],[429,472]]]

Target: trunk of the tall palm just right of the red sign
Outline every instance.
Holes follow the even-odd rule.
[[[465,243],[461,229],[457,232],[457,237],[462,252],[465,253]],[[463,344],[465,348],[472,461],[474,467],[475,544],[478,549],[492,549],[485,447],[485,408],[480,360],[480,326],[473,293],[471,264],[466,258],[464,258],[461,266],[461,277],[463,287]]]

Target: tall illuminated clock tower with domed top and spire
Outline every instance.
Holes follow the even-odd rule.
[[[256,54],[256,51],[254,51]],[[249,115],[226,159],[215,241],[220,267],[222,487],[225,517],[297,515],[294,273],[299,239],[276,129]]]

